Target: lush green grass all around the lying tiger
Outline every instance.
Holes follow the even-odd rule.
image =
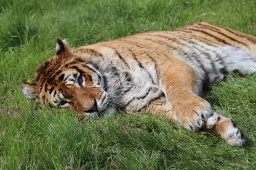
[[[54,54],[57,37],[78,47],[199,21],[256,36],[255,14],[255,0],[1,0],[0,170],[254,169],[256,74],[234,75],[204,96],[237,122],[246,147],[148,113],[81,122],[26,99],[20,84]]]

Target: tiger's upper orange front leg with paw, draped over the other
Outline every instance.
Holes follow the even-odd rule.
[[[172,118],[193,132],[204,127],[212,116],[212,108],[194,93],[197,88],[194,69],[182,61],[174,60],[170,66],[166,65],[162,74],[160,85],[172,105]]]

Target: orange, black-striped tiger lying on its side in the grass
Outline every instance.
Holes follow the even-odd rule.
[[[42,105],[70,108],[81,119],[113,116],[117,109],[151,112],[241,146],[245,137],[235,122],[200,97],[210,82],[232,71],[256,71],[256,38],[196,23],[79,48],[58,38],[56,55],[21,90]]]

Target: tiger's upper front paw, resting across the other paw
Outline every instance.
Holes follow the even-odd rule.
[[[185,105],[173,107],[178,122],[193,132],[204,127],[207,119],[212,115],[211,105],[201,97],[191,97],[184,101]]]

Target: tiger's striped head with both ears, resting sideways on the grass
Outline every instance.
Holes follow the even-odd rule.
[[[21,90],[43,106],[49,103],[50,107],[71,109],[82,119],[84,115],[101,117],[115,112],[102,71],[73,55],[59,38],[56,55],[43,62],[35,76],[35,83],[23,84]]]

